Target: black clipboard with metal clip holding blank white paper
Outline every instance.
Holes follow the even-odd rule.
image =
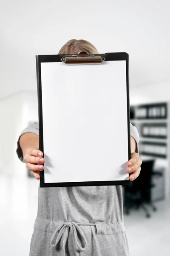
[[[40,187],[129,185],[129,55],[36,55]]]

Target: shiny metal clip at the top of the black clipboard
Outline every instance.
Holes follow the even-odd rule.
[[[105,57],[101,54],[89,54],[86,51],[81,51],[77,55],[65,55],[61,58],[66,65],[87,65],[87,64],[102,64]]]

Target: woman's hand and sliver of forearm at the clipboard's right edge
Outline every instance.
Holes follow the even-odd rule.
[[[130,136],[130,149],[131,149],[131,159],[127,162],[127,172],[132,173],[129,179],[135,180],[141,171],[142,160],[138,153],[135,152],[136,141]]]

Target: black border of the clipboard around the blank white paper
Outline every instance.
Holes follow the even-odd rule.
[[[127,133],[128,133],[127,136],[128,136],[128,160],[130,160],[131,151],[130,151],[129,55],[126,52],[108,52],[101,55],[105,57],[105,61],[126,61]],[[62,62],[61,59],[63,58],[63,56],[65,57],[65,55],[36,55],[37,97],[38,97],[38,116],[39,116],[39,150],[42,152],[44,152],[44,146],[43,146],[43,121],[42,121],[41,63],[42,62]],[[40,187],[113,186],[113,185],[118,186],[118,185],[130,185],[130,183],[131,183],[130,180],[45,183],[44,170],[40,171]]]

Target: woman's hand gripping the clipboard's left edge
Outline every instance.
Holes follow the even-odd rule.
[[[40,171],[43,171],[45,159],[42,157],[43,153],[36,148],[27,148],[25,151],[24,161],[26,167],[34,175],[37,180],[40,180]]]

